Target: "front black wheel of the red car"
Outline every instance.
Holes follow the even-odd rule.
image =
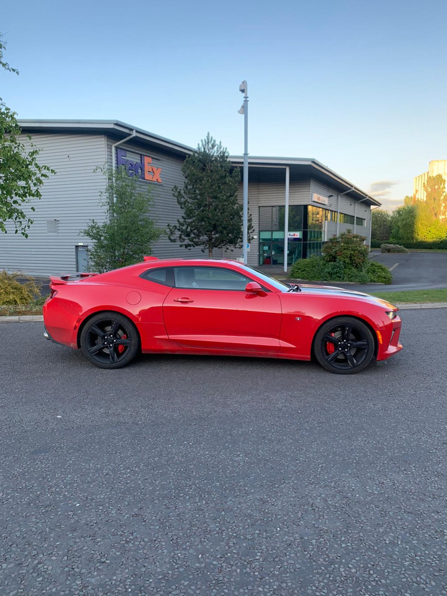
[[[375,360],[374,337],[364,322],[353,316],[337,316],[325,322],[313,339],[313,353],[331,373],[355,374]]]

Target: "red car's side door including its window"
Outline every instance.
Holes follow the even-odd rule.
[[[174,278],[175,287],[163,302],[170,340],[209,350],[279,352],[277,293],[247,292],[253,280],[224,266],[175,267]]]

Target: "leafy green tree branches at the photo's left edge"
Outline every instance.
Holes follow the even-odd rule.
[[[18,75],[18,70],[3,60],[5,46],[0,33],[0,67]],[[39,150],[32,142],[27,150],[15,116],[17,114],[0,98],[0,231],[6,233],[6,222],[12,221],[15,234],[20,232],[27,238],[33,219],[24,213],[23,206],[33,198],[41,198],[44,179],[55,171],[38,163]],[[26,136],[31,141],[30,135]],[[35,207],[31,206],[31,210],[35,211]]]

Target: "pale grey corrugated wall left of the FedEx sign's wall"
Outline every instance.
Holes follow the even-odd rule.
[[[21,139],[29,147],[28,139]],[[47,276],[76,271],[75,244],[89,243],[79,235],[89,219],[104,221],[100,192],[104,177],[94,172],[105,162],[104,135],[34,134],[33,144],[42,151],[39,163],[56,170],[41,189],[42,199],[33,201],[23,210],[34,219],[28,238],[14,234],[14,225],[7,224],[8,233],[0,233],[0,269],[22,271],[29,275]],[[57,222],[57,234],[48,233],[47,221]],[[51,225],[48,227],[51,229]]]

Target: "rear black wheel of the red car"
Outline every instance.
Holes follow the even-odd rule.
[[[80,349],[97,367],[125,367],[138,353],[138,331],[126,316],[117,312],[100,312],[83,327]]]

